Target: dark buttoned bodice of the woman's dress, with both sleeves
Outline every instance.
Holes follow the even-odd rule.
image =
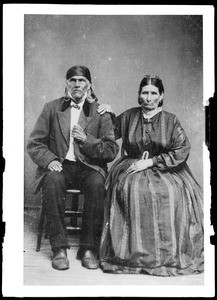
[[[150,158],[168,167],[185,161],[190,143],[176,116],[160,111],[144,119],[141,107],[131,108],[116,119],[116,138],[122,138],[122,147],[129,157],[141,158],[144,151]]]

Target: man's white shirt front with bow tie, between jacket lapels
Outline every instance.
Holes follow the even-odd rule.
[[[73,101],[71,101],[71,105],[75,104]],[[77,105],[80,107],[80,109],[77,109],[73,106],[71,106],[71,122],[70,122],[70,142],[69,142],[69,151],[66,154],[66,159],[71,161],[76,161],[76,156],[74,152],[74,138],[71,136],[72,128],[74,125],[78,124],[78,119],[81,113],[81,110],[83,108],[84,101],[81,103],[78,103]]]

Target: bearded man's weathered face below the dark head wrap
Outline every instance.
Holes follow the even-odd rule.
[[[67,80],[67,89],[71,97],[79,102],[90,87],[90,82],[84,76],[72,76]]]

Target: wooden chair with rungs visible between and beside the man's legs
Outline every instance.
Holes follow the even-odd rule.
[[[70,225],[66,226],[66,229],[71,232],[79,232],[81,227],[78,226],[78,217],[82,217],[82,209],[79,209],[79,195],[81,195],[80,190],[73,190],[68,189],[66,191],[66,196],[71,197],[71,209],[65,210],[65,217],[70,218]],[[37,236],[37,246],[36,251],[40,251],[41,248],[41,239],[43,235],[43,231],[45,229],[45,237],[47,237],[46,233],[46,220],[45,220],[45,209],[42,203],[41,211],[40,211],[40,218],[39,218],[39,225],[38,225],[38,236]]]

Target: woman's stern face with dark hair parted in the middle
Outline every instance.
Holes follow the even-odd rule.
[[[141,106],[145,110],[157,109],[159,102],[163,99],[163,93],[160,94],[159,89],[152,84],[143,86],[139,96]]]

